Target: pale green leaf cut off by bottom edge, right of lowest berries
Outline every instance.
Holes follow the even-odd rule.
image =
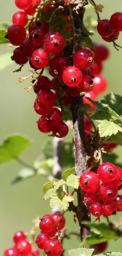
[[[94,249],[77,248],[77,249],[68,251],[68,254],[69,256],[91,256],[93,251]]]

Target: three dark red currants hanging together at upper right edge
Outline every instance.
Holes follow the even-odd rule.
[[[100,20],[97,31],[106,42],[115,41],[122,31],[122,13],[113,13],[110,20]]]

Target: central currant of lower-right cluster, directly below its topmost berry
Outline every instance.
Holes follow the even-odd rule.
[[[98,188],[98,195],[104,201],[111,201],[117,197],[118,189],[111,182],[102,183]]]

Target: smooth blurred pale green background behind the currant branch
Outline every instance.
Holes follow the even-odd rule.
[[[104,5],[103,13],[100,13],[101,19],[109,19],[111,14],[122,11],[122,1],[116,2],[111,0],[96,0],[96,4]],[[1,1],[0,3],[0,22],[11,21],[13,13],[17,11],[14,0]],[[88,11],[96,19],[94,11]],[[94,41],[105,42],[95,32]],[[122,33],[117,41],[122,45]],[[104,63],[103,75],[108,80],[108,92],[113,91],[122,94],[122,49],[117,52],[112,43],[107,43],[110,48],[110,57]],[[9,50],[6,44],[0,45],[0,54]],[[6,135],[11,133],[22,133],[34,141],[33,145],[21,155],[21,159],[32,164],[35,158],[41,153],[43,143],[47,140],[47,135],[38,131],[35,121],[38,115],[33,110],[35,93],[33,90],[27,93],[23,88],[30,86],[29,80],[22,84],[16,85],[19,76],[27,76],[28,71],[24,67],[21,73],[13,73],[17,65],[12,63],[11,66],[0,72],[0,141]],[[101,95],[102,98],[102,95]],[[72,140],[72,132],[68,135],[67,140]],[[118,146],[115,153],[119,155],[121,161],[121,147]],[[0,254],[2,255],[5,248],[12,246],[12,236],[17,230],[29,231],[32,227],[32,219],[36,216],[50,212],[49,201],[42,203],[42,185],[46,182],[44,177],[38,176],[20,182],[14,186],[10,185],[12,179],[21,169],[21,165],[15,161],[0,166]],[[111,220],[118,220],[122,216],[121,212]],[[73,214],[66,214],[68,231],[78,231],[78,225],[73,222]],[[104,219],[103,219],[104,221]],[[72,237],[71,240],[64,242],[64,249],[77,248],[79,240]],[[121,251],[121,239],[114,242],[111,240],[107,251]],[[65,253],[66,255],[66,253]]]

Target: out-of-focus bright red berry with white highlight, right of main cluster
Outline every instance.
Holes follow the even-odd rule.
[[[101,94],[107,90],[107,80],[101,75],[95,76],[94,81],[94,92],[96,94]]]

